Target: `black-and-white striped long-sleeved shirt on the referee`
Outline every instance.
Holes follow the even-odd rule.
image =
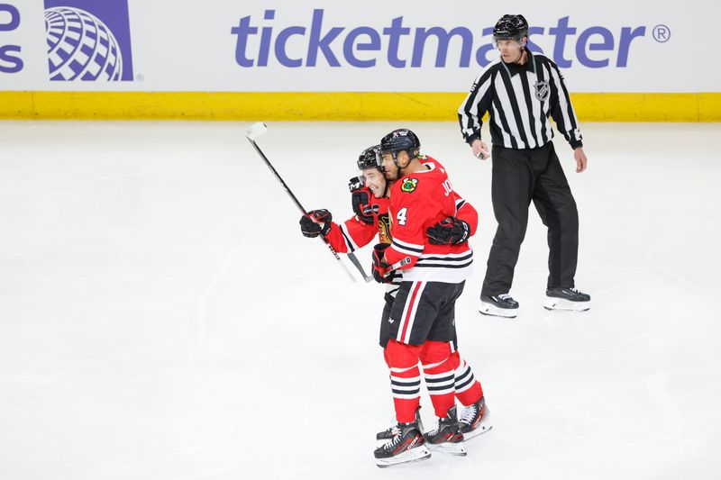
[[[525,65],[497,59],[476,78],[458,109],[463,138],[468,143],[480,139],[481,118],[488,112],[494,145],[543,147],[553,138],[552,117],[571,148],[581,147],[579,122],[558,66],[540,53],[526,51]]]

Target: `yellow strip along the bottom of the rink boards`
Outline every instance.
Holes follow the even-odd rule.
[[[28,120],[455,120],[464,93],[0,92]],[[721,93],[573,94],[585,122],[721,122]]]

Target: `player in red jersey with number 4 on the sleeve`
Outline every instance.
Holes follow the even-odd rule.
[[[415,415],[420,405],[419,360],[438,417],[438,427],[424,433],[424,440],[431,448],[465,455],[455,407],[452,342],[455,301],[473,261],[465,240],[475,230],[477,218],[472,225],[458,218],[465,201],[453,191],[438,161],[419,156],[420,141],[413,131],[390,132],[380,149],[386,178],[393,182],[388,206],[392,240],[374,248],[374,277],[388,281],[400,271],[403,280],[381,339],[397,433],[375,456],[388,462],[416,459],[413,448],[403,447],[415,442],[420,432]],[[453,241],[438,241],[440,236]],[[481,418],[484,406],[479,404]]]

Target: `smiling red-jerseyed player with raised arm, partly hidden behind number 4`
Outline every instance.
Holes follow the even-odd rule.
[[[388,220],[388,187],[389,182],[379,167],[379,146],[365,149],[358,159],[358,168],[362,177],[351,178],[351,204],[355,215],[351,219],[338,224],[332,221],[332,215],[327,210],[315,210],[308,216],[301,217],[301,231],[307,237],[323,234],[325,239],[338,252],[349,252],[359,249],[370,243],[378,235],[379,242],[390,243],[390,230]],[[476,230],[478,213],[472,205],[465,203],[460,206],[457,218],[468,225],[468,229],[454,230],[451,222],[434,225],[428,233],[438,243],[464,242]],[[395,294],[402,281],[401,272],[397,272],[387,286],[385,295],[386,304],[381,316],[381,345],[384,343],[385,330],[389,323],[391,307]],[[490,430],[488,409],[485,406],[483,390],[479,381],[475,379],[470,366],[463,360],[456,349],[455,337],[452,343],[452,366],[455,370],[455,395],[464,406],[461,415],[461,432],[467,439]],[[420,386],[418,385],[418,393]],[[395,438],[397,425],[383,432],[379,432],[377,439]]]

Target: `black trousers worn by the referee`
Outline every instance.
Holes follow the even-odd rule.
[[[511,289],[532,200],[548,227],[548,287],[575,286],[579,213],[552,142],[538,149],[494,145],[492,161],[491,198],[498,229],[480,294],[507,294]]]

